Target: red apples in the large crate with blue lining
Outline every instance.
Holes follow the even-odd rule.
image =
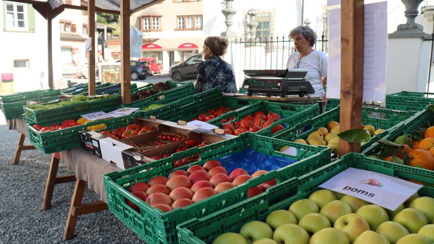
[[[131,185],[128,191],[153,208],[168,212],[244,184],[247,180],[264,173],[267,171],[260,170],[250,176],[243,169],[235,169],[228,174],[220,161],[209,160],[203,167],[194,165],[187,171],[175,170],[167,178],[157,176],[147,183],[137,182]],[[276,183],[276,179],[273,179],[252,187],[248,190],[248,197],[258,195]],[[139,212],[135,204],[128,199],[125,201]]]

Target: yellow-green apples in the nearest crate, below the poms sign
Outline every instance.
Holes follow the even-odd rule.
[[[395,211],[350,195],[321,189],[288,210],[251,221],[212,244],[432,244],[434,198],[418,193]]]

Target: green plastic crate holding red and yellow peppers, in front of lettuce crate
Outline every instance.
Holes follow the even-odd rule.
[[[118,127],[125,127],[134,123],[134,118],[141,117],[141,112],[136,112],[133,114],[129,114],[126,116],[110,118],[110,119],[102,119],[97,121],[92,121],[90,123],[70,127],[63,130],[58,131],[49,131],[40,133],[39,131],[33,129],[36,123],[27,124],[27,132],[28,138],[36,148],[38,148],[42,153],[49,154],[54,152],[59,152],[63,150],[69,150],[73,148],[77,148],[81,146],[80,142],[80,131],[86,130],[89,126],[105,124],[105,129],[102,130],[114,130]],[[69,117],[69,119],[79,119],[80,116]],[[65,119],[54,121],[54,124],[61,124]],[[43,124],[43,126],[49,126],[50,124]]]

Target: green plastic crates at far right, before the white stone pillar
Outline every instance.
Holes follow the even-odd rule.
[[[386,95],[387,109],[420,111],[430,103],[434,103],[434,93],[403,91]]]

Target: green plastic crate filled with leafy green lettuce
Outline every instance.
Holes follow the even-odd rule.
[[[57,103],[57,102],[53,102]],[[46,103],[50,104],[50,103]],[[91,102],[82,102],[73,105],[50,108],[50,109],[41,109],[41,110],[33,110],[24,107],[24,116],[26,123],[37,123],[37,124],[49,124],[54,123],[59,120],[66,120],[71,117],[77,117],[82,114],[91,113],[91,112],[110,112],[121,104],[121,97],[111,97],[105,99],[99,99]]]

